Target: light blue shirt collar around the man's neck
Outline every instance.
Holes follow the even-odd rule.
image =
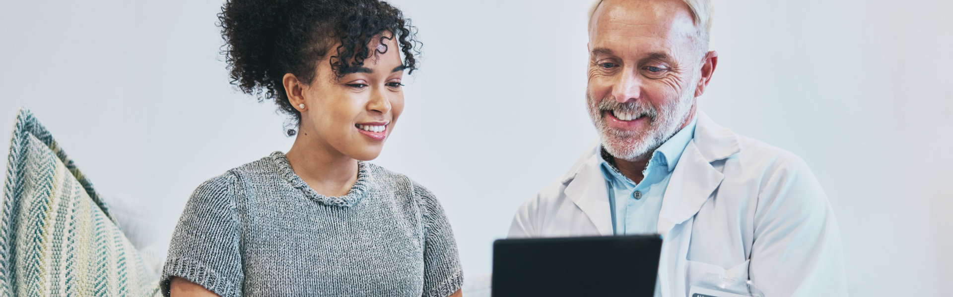
[[[695,137],[695,126],[697,123],[698,115],[692,119],[692,122],[689,123],[688,126],[679,130],[679,132],[672,135],[671,138],[657,148],[656,151],[652,153],[652,159],[649,160],[649,167],[663,165],[669,172],[675,170],[675,166],[679,165],[681,153],[685,151],[685,147],[688,147],[688,143]],[[602,177],[609,182],[625,181],[633,185],[635,184],[618,171],[612,155],[605,151],[604,148],[600,148],[599,150],[599,165],[600,168],[602,168]]]

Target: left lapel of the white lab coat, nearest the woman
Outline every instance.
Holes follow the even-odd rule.
[[[609,192],[599,169],[598,154],[591,155],[577,168],[563,193],[585,213],[599,234],[613,234]]]

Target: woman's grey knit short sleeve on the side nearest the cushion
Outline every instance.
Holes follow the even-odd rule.
[[[226,173],[193,191],[172,233],[169,256],[162,268],[164,296],[169,296],[173,276],[222,297],[241,296],[243,274],[234,182],[234,175]]]

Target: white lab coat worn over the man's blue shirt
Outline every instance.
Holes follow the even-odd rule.
[[[709,271],[750,279],[767,297],[847,296],[841,234],[807,165],[697,116],[659,213],[662,296],[686,296]],[[509,236],[612,235],[599,149],[523,203]]]

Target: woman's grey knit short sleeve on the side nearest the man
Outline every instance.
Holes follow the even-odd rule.
[[[454,232],[443,213],[443,207],[434,194],[414,184],[414,196],[421,201],[424,210],[425,239],[424,297],[447,297],[463,286],[463,269],[456,252]]]

